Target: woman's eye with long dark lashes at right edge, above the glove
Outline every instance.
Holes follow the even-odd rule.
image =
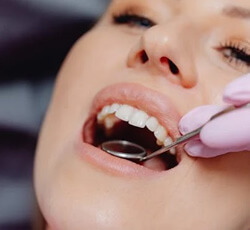
[[[227,41],[221,43],[217,50],[222,53],[229,64],[236,67],[250,67],[249,48],[246,45],[240,42]]]

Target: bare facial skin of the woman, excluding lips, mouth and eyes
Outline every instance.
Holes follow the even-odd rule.
[[[250,20],[221,14],[245,0],[115,0],[97,25],[74,45],[57,78],[41,130],[35,190],[47,229],[250,228],[250,154],[213,159],[183,154],[176,167],[154,177],[115,175],[79,159],[75,140],[93,98],[115,83],[137,83],[168,96],[180,116],[220,104],[226,84],[249,72],[215,49],[237,41],[250,49]],[[157,25],[112,23],[135,7]],[[138,53],[145,50],[143,64]],[[166,57],[180,72],[171,73]]]

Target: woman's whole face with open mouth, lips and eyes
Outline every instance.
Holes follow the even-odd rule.
[[[180,147],[167,170],[168,159],[139,165],[98,147],[119,138],[153,151],[192,108],[222,103],[250,70],[249,28],[246,0],[112,1],[65,60],[41,132],[35,188],[48,228],[249,229],[249,153],[201,159]]]

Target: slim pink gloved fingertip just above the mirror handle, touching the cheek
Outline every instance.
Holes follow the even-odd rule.
[[[214,114],[222,111],[226,107],[226,105],[204,105],[191,110],[181,118],[179,131],[184,135],[201,127]]]

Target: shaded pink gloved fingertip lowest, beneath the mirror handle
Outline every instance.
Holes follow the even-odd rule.
[[[211,158],[232,152],[229,149],[215,149],[205,146],[200,140],[189,141],[184,146],[188,155],[193,157]]]

